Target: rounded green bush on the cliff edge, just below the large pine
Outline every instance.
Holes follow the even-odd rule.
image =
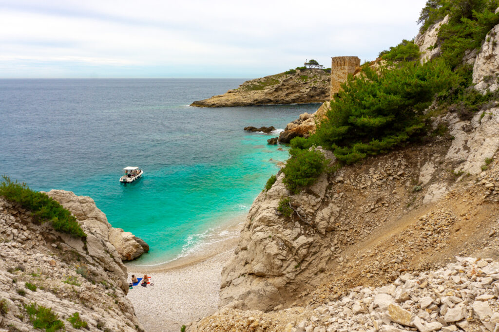
[[[324,171],[326,161],[324,155],[315,150],[292,148],[289,154],[291,158],[282,168],[283,182],[291,192],[298,193],[303,187],[315,182]]]

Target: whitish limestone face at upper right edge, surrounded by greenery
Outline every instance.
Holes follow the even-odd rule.
[[[496,25],[485,38],[473,66],[473,83],[475,89],[485,93],[488,89],[496,91],[499,88],[499,24]]]

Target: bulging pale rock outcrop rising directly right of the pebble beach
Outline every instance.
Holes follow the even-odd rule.
[[[253,202],[236,255],[222,271],[221,306],[270,310],[317,278],[314,273],[330,256],[331,233],[325,230],[331,229],[338,210],[334,204],[320,204],[327,175],[296,195],[290,195],[282,179],[280,174]],[[278,215],[279,200],[286,196],[302,223]],[[317,220],[311,217],[316,211]]]

